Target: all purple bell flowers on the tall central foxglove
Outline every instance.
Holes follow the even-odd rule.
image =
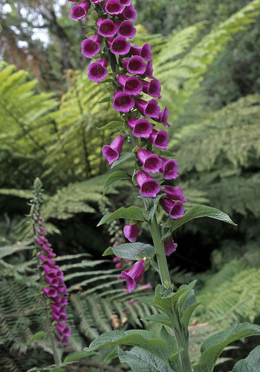
[[[88,0],[72,6],[72,19],[85,17],[91,7],[98,14],[95,31],[81,45],[84,56],[97,58],[89,64],[88,76],[96,83],[105,79],[107,74],[113,77],[112,106],[120,112],[127,128],[127,133],[122,132],[110,145],[102,148],[102,154],[109,165],[117,161],[125,138],[131,134],[135,138],[133,153],[137,167],[134,176],[140,195],[155,198],[159,194],[164,211],[173,219],[180,218],[187,200],[182,196],[181,185],[162,186],[164,180],[175,180],[178,176],[178,163],[164,156],[169,136],[166,130],[158,127],[171,126],[167,122],[169,110],[167,107],[161,110],[157,101],[161,98],[161,85],[153,76],[151,46],[149,43],[142,46],[131,43],[136,34],[132,20],[137,19],[137,12],[131,0]],[[110,73],[108,65],[111,65]],[[133,225],[124,227],[124,236],[130,242],[136,242],[139,233],[140,227],[134,221]],[[167,256],[176,247],[172,236],[164,240]],[[132,269],[122,272],[129,291],[136,288],[142,278],[144,260],[136,262]]]

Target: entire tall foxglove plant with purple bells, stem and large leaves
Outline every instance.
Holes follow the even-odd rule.
[[[116,218],[130,220],[124,227],[124,236],[130,242],[109,247],[104,256],[115,254],[118,264],[120,258],[137,261],[131,269],[121,273],[127,281],[128,291],[136,289],[149,267],[158,272],[161,284],[156,287],[154,298],[139,300],[162,312],[160,316],[145,319],[159,322],[163,327],[159,337],[149,331],[105,333],[91,342],[87,350],[127,344],[134,346],[130,352],[117,347],[112,355],[113,358],[118,356],[121,362],[127,362],[133,371],[211,372],[229,342],[244,335],[260,334],[260,329],[245,323],[213,336],[202,346],[199,363],[191,366],[188,323],[198,305],[193,291],[195,281],[175,291],[166,256],[177,249],[173,231],[193,218],[209,216],[235,224],[223,212],[203,205],[196,205],[184,214],[187,198],[182,195],[182,187],[167,184],[178,177],[178,164],[168,149],[169,135],[162,129],[171,126],[168,123],[169,110],[158,103],[161,86],[153,76],[151,46],[149,43],[133,43],[136,28],[132,21],[137,19],[137,12],[131,0],[89,0],[88,3],[88,12],[94,13],[96,24],[82,43],[82,53],[88,58],[98,57],[96,62],[90,63],[88,76],[97,83],[109,84],[109,99],[121,118],[115,124],[120,132],[111,145],[103,147],[102,152],[113,167],[129,159],[129,152],[124,153],[122,149],[124,143],[126,146],[131,143],[130,154],[135,164],[132,176],[122,171],[111,174],[105,183],[105,190],[107,192],[121,178],[129,178],[138,187],[144,202],[144,209],[121,207],[102,218],[99,225]],[[86,10],[85,5],[82,6]],[[83,10],[78,13],[83,14]],[[106,81],[107,75],[109,79]],[[113,123],[109,123],[108,127]],[[166,218],[158,225],[156,215],[163,210]],[[142,224],[149,225],[153,245],[137,242]]]

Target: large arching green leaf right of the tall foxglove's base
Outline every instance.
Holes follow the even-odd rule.
[[[212,372],[224,348],[240,338],[260,335],[260,326],[250,323],[234,324],[232,327],[212,335],[202,344],[199,363],[193,366],[194,372]]]

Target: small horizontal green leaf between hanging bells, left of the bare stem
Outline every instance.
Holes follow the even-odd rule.
[[[112,248],[112,251],[117,257],[138,260],[142,256],[150,257],[155,253],[155,248],[149,244],[135,242],[117,245]]]

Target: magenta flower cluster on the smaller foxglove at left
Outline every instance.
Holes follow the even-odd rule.
[[[46,232],[42,220],[38,218],[36,222],[39,225],[39,229],[37,229],[35,242],[36,245],[42,249],[39,258],[43,262],[45,282],[47,282],[47,286],[43,287],[43,293],[50,298],[51,314],[55,321],[55,328],[57,331],[57,333],[54,332],[54,336],[56,340],[67,345],[71,331],[69,327],[65,325],[67,321],[65,309],[67,298],[65,296],[67,296],[68,293],[63,280],[63,272],[58,265],[55,265],[53,258],[56,257],[56,254],[54,254],[50,242],[48,242],[45,237]]]

